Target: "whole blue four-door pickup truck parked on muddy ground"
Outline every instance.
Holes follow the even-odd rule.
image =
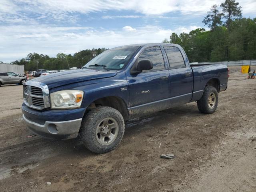
[[[226,90],[226,65],[191,67],[177,44],[134,44],[104,51],[84,69],[50,74],[23,86],[23,119],[45,138],[80,138],[105,153],[118,146],[124,122],[196,101],[202,113]]]

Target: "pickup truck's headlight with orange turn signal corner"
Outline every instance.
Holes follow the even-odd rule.
[[[52,109],[79,108],[84,92],[80,90],[63,90],[50,94]]]

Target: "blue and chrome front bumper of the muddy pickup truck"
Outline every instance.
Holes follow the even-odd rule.
[[[78,136],[85,108],[70,110],[34,110],[22,105],[23,119],[28,128],[44,138],[72,139]]]

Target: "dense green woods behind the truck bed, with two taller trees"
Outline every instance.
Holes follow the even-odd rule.
[[[236,0],[213,5],[202,21],[210,28],[172,33],[164,43],[180,44],[190,62],[256,59],[256,18],[242,18]]]

